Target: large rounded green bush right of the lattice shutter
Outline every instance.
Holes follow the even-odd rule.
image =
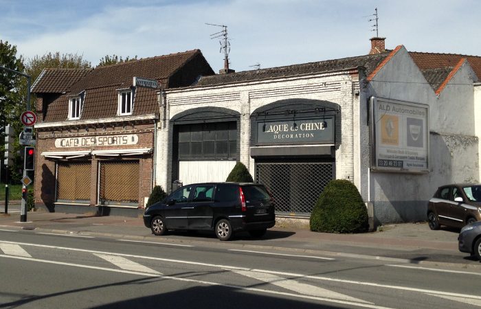
[[[311,231],[362,233],[368,231],[368,209],[350,181],[330,181],[311,213]]]

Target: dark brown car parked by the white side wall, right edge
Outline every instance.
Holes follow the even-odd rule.
[[[481,220],[480,207],[480,184],[443,185],[429,200],[427,222],[431,229],[464,227]]]

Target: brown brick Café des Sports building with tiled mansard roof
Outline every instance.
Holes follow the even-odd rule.
[[[96,69],[45,69],[34,82],[35,203],[109,214],[144,207],[155,185],[159,89],[214,72],[199,50]],[[119,211],[120,212],[120,211]]]

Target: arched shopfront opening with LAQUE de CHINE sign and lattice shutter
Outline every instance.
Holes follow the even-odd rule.
[[[282,100],[251,114],[251,148],[258,183],[276,199],[276,213],[309,216],[335,179],[341,141],[340,106],[320,100]]]

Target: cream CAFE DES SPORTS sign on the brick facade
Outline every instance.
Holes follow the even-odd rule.
[[[56,148],[97,147],[97,146],[124,146],[135,145],[139,142],[136,134],[126,135],[101,135],[89,137],[66,137],[55,139]]]

